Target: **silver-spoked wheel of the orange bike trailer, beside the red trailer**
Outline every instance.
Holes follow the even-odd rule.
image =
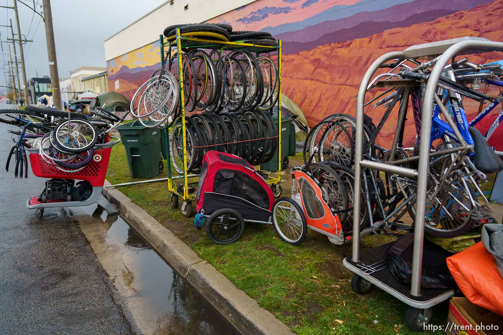
[[[288,244],[301,244],[307,234],[307,223],[304,211],[287,197],[277,199],[273,204],[273,226],[280,238]]]

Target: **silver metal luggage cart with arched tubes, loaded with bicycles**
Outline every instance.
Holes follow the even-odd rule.
[[[431,72],[426,84],[425,96],[423,102],[423,114],[421,118],[421,136],[429,139],[432,128],[432,113],[434,94],[437,83],[444,67],[448,61],[456,55],[465,55],[481,53],[488,51],[503,51],[503,43],[492,42],[484,38],[462,37],[452,40],[432,42],[411,46],[403,51],[394,51],[382,55],[369,67],[362,79],[358,91],[357,109],[356,109],[356,145],[355,145],[355,176],[362,173],[362,167],[384,171],[391,174],[397,174],[407,177],[417,177],[417,201],[414,224],[414,245],[412,256],[412,278],[410,287],[399,283],[393,277],[387,266],[387,249],[389,244],[374,248],[367,252],[360,252],[360,193],[354,195],[354,214],[353,214],[353,251],[352,257],[344,259],[343,264],[346,268],[354,272],[352,286],[360,294],[364,294],[372,288],[372,284],[393,295],[400,301],[409,305],[406,323],[409,328],[416,331],[422,331],[424,325],[431,321],[431,307],[449,299],[454,295],[453,289],[421,290],[421,271],[423,260],[423,239],[425,232],[425,215],[427,199],[427,179],[430,154],[430,141],[421,141],[420,154],[418,160],[418,169],[405,168],[362,160],[363,154],[363,117],[365,93],[367,86],[380,65],[391,59],[421,58],[433,59],[439,55],[433,71]],[[355,178],[354,189],[361,188],[361,179]]]

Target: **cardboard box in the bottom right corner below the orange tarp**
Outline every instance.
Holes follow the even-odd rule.
[[[503,316],[467,298],[452,297],[445,332],[449,335],[500,335],[503,334]]]

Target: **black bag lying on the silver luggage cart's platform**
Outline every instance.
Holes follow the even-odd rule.
[[[388,249],[388,264],[395,279],[404,284],[410,284],[412,278],[412,249],[414,234],[407,234],[399,238]],[[453,254],[424,240],[423,268],[421,271],[421,287],[449,289],[456,287],[447,267],[446,258]]]

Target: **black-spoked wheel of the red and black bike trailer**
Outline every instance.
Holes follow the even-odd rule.
[[[243,217],[232,208],[220,208],[214,211],[206,222],[206,235],[216,244],[235,242],[243,231]]]

